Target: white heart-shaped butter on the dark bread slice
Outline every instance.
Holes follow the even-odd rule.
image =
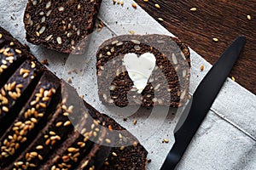
[[[154,71],[155,61],[154,54],[151,53],[140,56],[134,53],[125,54],[124,65],[134,87],[138,90],[137,93],[141,94],[147,86],[148,78]]]

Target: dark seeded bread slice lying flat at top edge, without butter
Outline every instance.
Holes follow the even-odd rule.
[[[28,1],[26,39],[67,54],[83,54],[102,0]]]

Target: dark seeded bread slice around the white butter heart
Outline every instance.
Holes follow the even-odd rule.
[[[182,52],[182,53],[181,53]],[[125,54],[154,54],[155,67],[138,94],[125,64]],[[188,99],[189,48],[176,37],[125,35],[103,42],[96,54],[98,94],[108,105],[170,105]],[[144,64],[144,63],[143,63]]]

